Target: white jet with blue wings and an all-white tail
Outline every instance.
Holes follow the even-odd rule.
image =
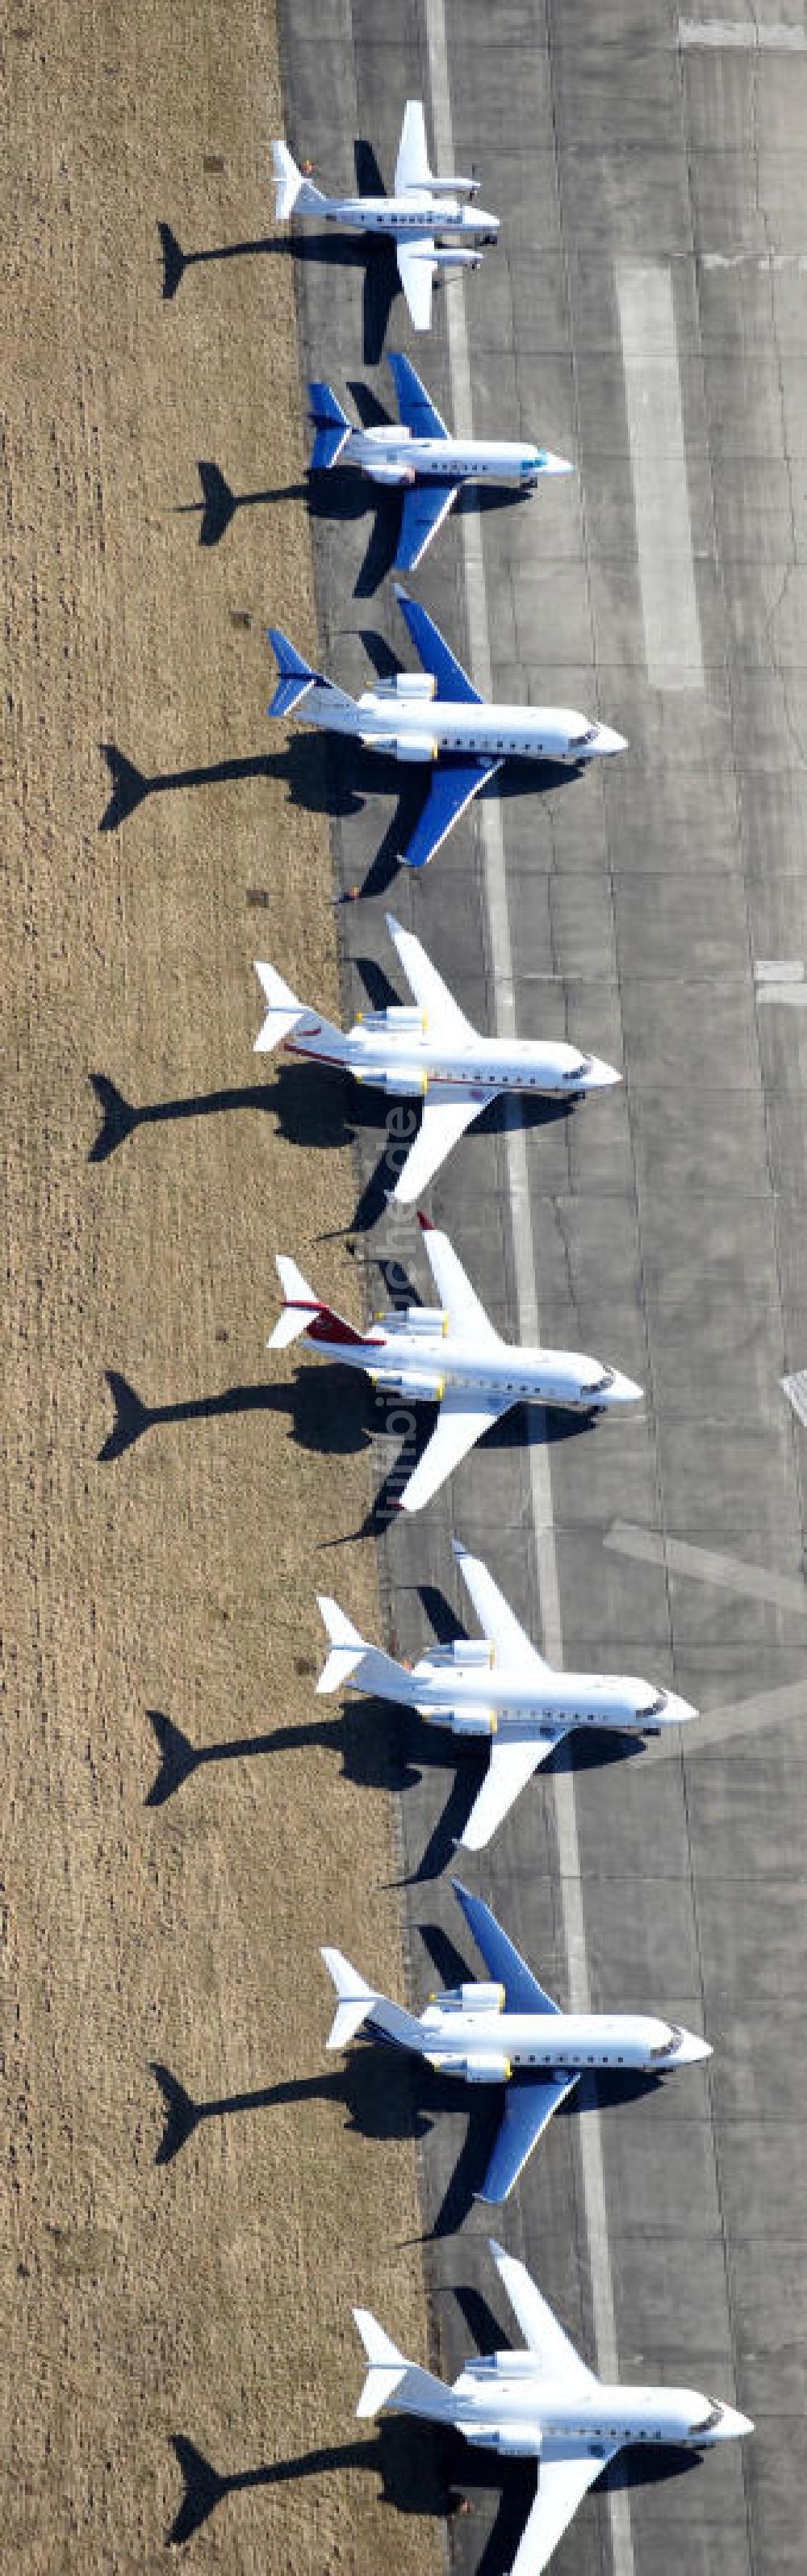
[[[593,2069],[668,2074],[712,2058],[706,2040],[678,2022],[639,2012],[562,2012],[482,1904],[451,1878],[469,1932],[482,1950],[487,1986],[433,1994],[420,2020],[366,1986],[340,1950],[322,1950],[338,1991],[327,2048],[345,2048],[366,2022],[371,2032],[410,2048],[441,2076],[467,2084],[505,2084],[505,2117],[477,2200],[508,2200],[513,2182],[541,2138],[552,2112]],[[510,2081],[513,2079],[513,2081]]]

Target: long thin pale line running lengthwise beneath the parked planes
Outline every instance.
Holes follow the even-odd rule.
[[[436,152],[436,165],[451,170],[454,137],[451,137],[443,0],[423,0],[423,8],[425,8],[433,152]],[[467,340],[462,283],[454,294],[449,291],[446,299],[446,332],[449,332],[454,425],[456,433],[464,438],[472,435],[472,371],[469,371],[469,340]],[[464,577],[467,577],[472,672],[482,696],[492,696],[480,513],[464,513],[459,526],[462,526]],[[510,1036],[516,1028],[516,994],[513,994],[513,945],[510,945],[500,801],[498,799],[482,801],[477,806],[477,814],[482,832],[485,902],[487,902],[490,958],[492,958],[492,984],[495,984],[495,1028],[498,1036]],[[510,1193],[510,1218],[513,1218],[518,1332],[523,1342],[539,1342],[541,1334],[539,1334],[539,1301],[536,1301],[534,1229],[529,1206],[526,1133],[521,1123],[521,1108],[516,1100],[510,1103],[510,1110],[513,1115],[508,1118],[505,1126],[505,1162],[508,1162],[508,1193]],[[541,1643],[549,1662],[559,1664],[562,1662],[559,1582],[557,1582],[557,1548],[554,1548],[554,1520],[552,1520],[552,1476],[549,1476],[549,1453],[544,1440],[529,1443],[529,1484],[531,1484],[534,1540],[536,1540]],[[585,1953],[585,1914],[583,1914],[580,1842],[578,1842],[572,1772],[557,1770],[552,1775],[552,1788],[554,1788],[554,1824],[557,1824],[557,1878],[559,1878],[565,1950],[570,1968],[570,2007],[572,2012],[585,2012],[590,2009],[590,1978],[588,1978],[588,1953]],[[596,2357],[601,2378],[616,2380],[619,2370],[616,2370],[606,2179],[603,2179],[601,2123],[596,2112],[580,2120],[580,2166],[583,2166]],[[634,2548],[632,2548],[632,2517],[629,2517],[627,2491],[608,2488],[606,2501],[611,2517],[614,2576],[632,2576]]]

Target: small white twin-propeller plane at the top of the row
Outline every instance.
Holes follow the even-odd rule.
[[[436,270],[451,276],[482,268],[485,242],[498,240],[498,214],[474,206],[474,178],[433,178],[425,149],[420,98],[407,98],[394,162],[392,196],[322,196],[297,167],[286,144],[271,147],[276,175],[276,222],[309,214],[320,224],[345,224],[351,232],[392,237],[397,273],[415,330],[431,330],[431,289]],[[449,242],[436,242],[436,232]]]

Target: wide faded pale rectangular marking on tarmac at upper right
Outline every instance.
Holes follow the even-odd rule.
[[[619,260],[616,307],[647,680],[650,688],[704,688],[670,268]]]

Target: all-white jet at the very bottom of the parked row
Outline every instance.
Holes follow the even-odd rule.
[[[492,2241],[490,2254],[526,2352],[472,2354],[449,2388],[407,2362],[366,2308],[353,2308],[369,2360],[356,2414],[376,2416],[389,2406],[392,2414],[451,2424],[500,2460],[536,2460],[539,2491],[510,2576],[541,2576],[578,2504],[627,2442],[714,2450],[753,2432],[753,2424],[699,2388],[608,2388],[580,2362],[526,2267]]]

